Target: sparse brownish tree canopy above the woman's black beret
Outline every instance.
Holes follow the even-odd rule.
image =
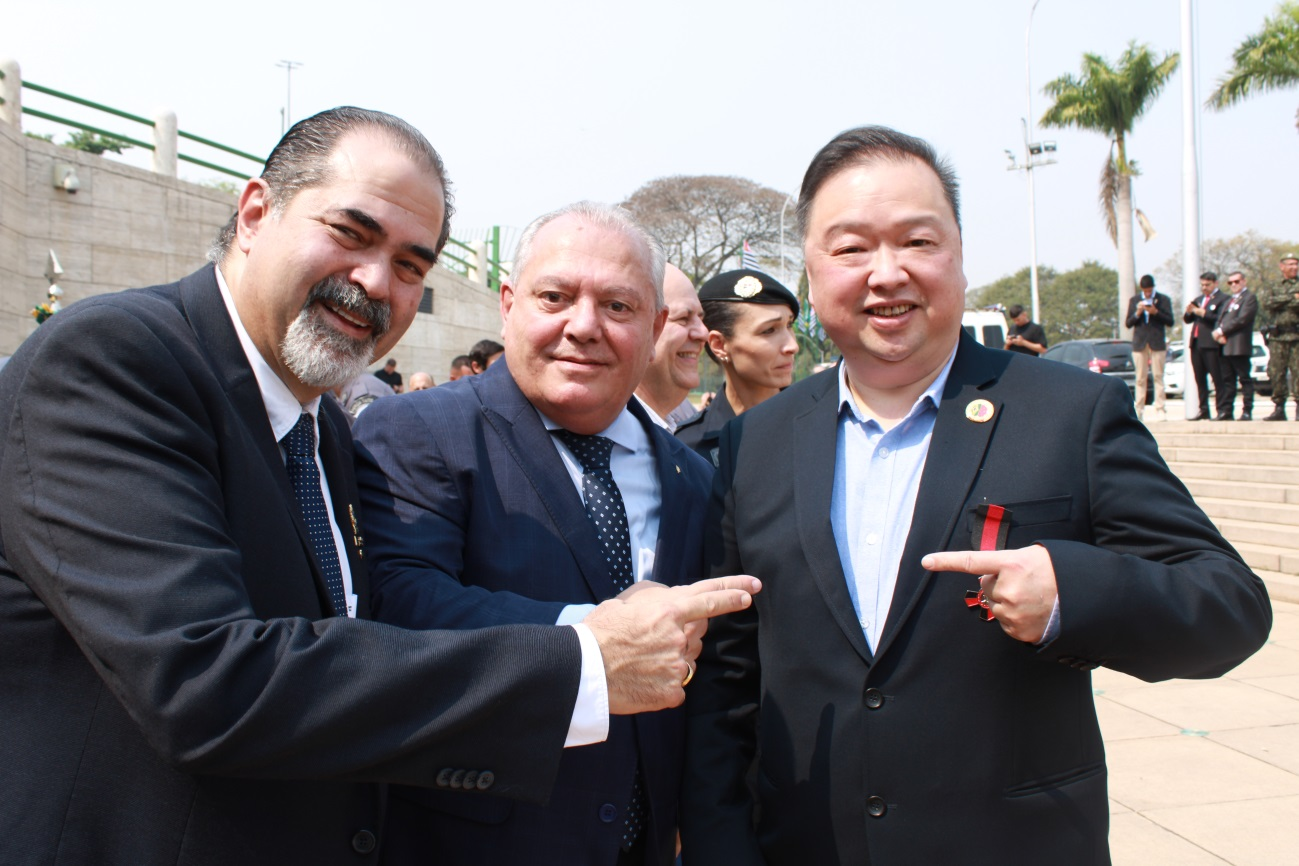
[[[622,206],[662,243],[668,261],[699,286],[738,260],[746,240],[777,273],[786,199],[783,192],[744,178],[673,175],[646,183]],[[792,206],[785,229],[787,254],[800,253]],[[798,258],[801,266],[801,254]],[[791,265],[790,273],[798,269]]]

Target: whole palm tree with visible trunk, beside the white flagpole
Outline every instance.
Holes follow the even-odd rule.
[[[1124,325],[1124,305],[1137,291],[1131,187],[1137,164],[1128,158],[1128,135],[1164,90],[1177,61],[1177,52],[1156,58],[1150,45],[1130,42],[1116,65],[1111,66],[1099,55],[1083,55],[1079,78],[1061,75],[1042,88],[1055,99],[1055,105],[1042,116],[1043,126],[1076,126],[1103,132],[1111,140],[1100,173],[1100,210],[1118,248],[1118,325],[1124,338],[1131,336]]]

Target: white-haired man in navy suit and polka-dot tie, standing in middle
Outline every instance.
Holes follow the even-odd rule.
[[[662,274],[661,247],[625,212],[549,213],[525,230],[501,287],[503,361],[361,417],[379,619],[565,622],[624,591],[659,592],[650,578],[703,574],[712,469],[633,399],[666,318]],[[596,441],[609,449],[612,506],[596,508],[588,487]],[[605,534],[611,519],[622,541]],[[625,549],[609,557],[611,544]],[[386,860],[670,863],[681,749],[682,715],[655,713],[614,719],[605,743],[566,753],[544,806],[395,791]]]

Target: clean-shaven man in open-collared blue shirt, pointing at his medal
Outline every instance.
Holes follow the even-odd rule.
[[[798,213],[843,362],[722,434],[716,567],[764,589],[687,689],[683,860],[1108,863],[1089,671],[1218,675],[1263,584],[1121,382],[961,336],[929,144],[839,135]]]

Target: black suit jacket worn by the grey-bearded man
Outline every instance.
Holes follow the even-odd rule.
[[[325,618],[210,267],[61,312],[0,374],[0,408],[5,863],[373,862],[372,783],[469,767],[546,797],[575,635]],[[321,456],[364,614],[327,401]]]

